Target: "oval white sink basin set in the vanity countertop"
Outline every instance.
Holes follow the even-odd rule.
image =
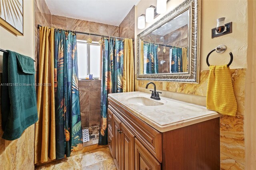
[[[154,100],[151,98],[146,98],[142,96],[134,96],[127,99],[127,102],[130,104],[138,105],[138,106],[160,106],[164,103],[159,102],[158,100]]]

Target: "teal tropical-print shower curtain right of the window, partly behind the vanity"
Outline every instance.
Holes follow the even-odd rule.
[[[107,134],[107,96],[123,92],[124,42],[116,38],[104,38],[102,44],[102,93],[100,103],[99,144],[106,145]]]

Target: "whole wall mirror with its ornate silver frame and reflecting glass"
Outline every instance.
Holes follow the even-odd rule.
[[[199,83],[199,0],[185,0],[137,36],[137,80]]]

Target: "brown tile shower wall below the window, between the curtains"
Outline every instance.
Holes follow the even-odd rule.
[[[79,80],[82,128],[100,125],[101,80]]]

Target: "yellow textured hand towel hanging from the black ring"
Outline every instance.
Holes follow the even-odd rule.
[[[236,116],[236,98],[227,65],[210,66],[206,108],[220,114]]]

